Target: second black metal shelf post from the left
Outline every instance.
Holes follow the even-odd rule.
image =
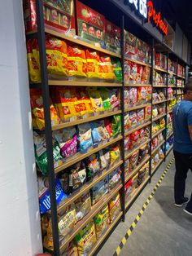
[[[121,127],[122,127],[122,135],[123,139],[120,143],[121,148],[121,157],[123,160],[123,164],[121,165],[121,179],[122,179],[122,193],[121,193],[121,206],[122,206],[122,220],[124,221],[125,218],[125,195],[124,195],[124,185],[125,185],[125,178],[124,178],[124,15],[121,17],[121,24],[120,24],[121,34],[120,34],[120,55],[121,55],[121,67],[122,67],[122,87],[120,90],[120,103],[121,103]]]

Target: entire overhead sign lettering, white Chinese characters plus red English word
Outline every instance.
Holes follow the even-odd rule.
[[[165,24],[160,12],[155,10],[152,1],[147,0],[124,0],[125,5],[133,7],[133,9],[148,22],[155,24],[156,28],[164,35],[168,35],[168,24]]]

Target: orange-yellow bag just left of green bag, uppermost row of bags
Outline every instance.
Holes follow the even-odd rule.
[[[113,67],[111,64],[111,59],[110,57],[101,57],[100,58],[100,73],[102,73],[102,77],[104,79],[111,79],[111,80],[115,80],[116,76],[115,73],[113,71]]]

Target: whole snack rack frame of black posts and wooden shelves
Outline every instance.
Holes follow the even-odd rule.
[[[112,51],[108,51],[106,49],[103,49],[98,46],[94,46],[94,44],[91,44],[89,42],[81,41],[80,38],[72,38],[66,36],[64,33],[59,33],[55,31],[54,29],[47,29],[45,28],[44,24],[44,15],[43,15],[43,4],[42,1],[36,0],[36,7],[37,7],[37,30],[33,31],[33,33],[27,33],[26,37],[27,39],[30,38],[37,38],[38,39],[38,47],[39,47],[39,57],[40,57],[40,66],[41,66],[41,82],[37,83],[30,83],[30,89],[36,88],[41,89],[42,91],[42,98],[43,98],[43,108],[44,108],[44,115],[45,115],[45,136],[46,136],[46,154],[47,154],[47,169],[48,169],[48,179],[49,179],[49,189],[50,189],[50,211],[49,214],[51,216],[51,223],[52,223],[52,237],[53,237],[53,249],[50,250],[48,248],[45,248],[45,251],[50,252],[50,254],[53,254],[55,256],[63,255],[64,250],[68,247],[68,244],[74,239],[74,237],[85,227],[86,224],[88,224],[90,221],[93,220],[94,216],[98,214],[100,210],[102,210],[103,206],[107,204],[111,200],[113,196],[116,196],[118,192],[120,192],[120,212],[116,215],[116,218],[111,221],[111,223],[108,225],[107,230],[103,233],[102,236],[98,237],[96,243],[94,246],[89,250],[88,255],[94,255],[96,252],[101,248],[103,245],[103,242],[106,240],[106,238],[111,234],[111,232],[114,230],[116,225],[120,222],[120,220],[124,221],[125,219],[125,213],[127,210],[129,210],[129,207],[133,204],[133,201],[137,199],[137,196],[142,192],[143,188],[145,188],[146,184],[151,182],[153,174],[155,174],[155,171],[159,168],[161,163],[165,161],[166,157],[168,156],[168,153],[171,152],[172,146],[169,148],[166,147],[166,144],[168,143],[168,139],[172,136],[172,133],[167,135],[167,126],[168,126],[168,118],[167,115],[172,113],[171,109],[168,109],[168,101],[172,99],[168,99],[168,87],[172,87],[175,89],[176,94],[174,95],[174,98],[178,100],[181,99],[181,93],[177,94],[178,88],[182,88],[182,86],[178,85],[177,81],[180,79],[183,85],[185,81],[185,77],[183,75],[178,73],[172,73],[176,77],[175,85],[168,84],[168,74],[170,74],[168,70],[168,60],[169,60],[169,54],[166,53],[167,58],[167,67],[159,68],[155,66],[155,60],[154,60],[154,49],[155,49],[155,41],[152,40],[151,43],[151,64],[146,64],[139,60],[133,60],[132,58],[129,58],[127,56],[124,56],[124,15],[120,17],[121,19],[121,38],[120,38],[120,54],[117,54]],[[46,64],[46,34],[49,34],[51,36],[61,38],[67,42],[75,43],[76,45],[84,46],[89,49],[92,49],[94,51],[101,52],[103,54],[107,54],[109,56],[113,56],[116,58],[119,58],[121,61],[122,66],[122,82],[95,82],[95,81],[83,81],[80,79],[74,79],[74,80],[54,80],[49,79],[48,77],[48,71],[47,71],[47,64]],[[133,62],[135,64],[140,64],[143,67],[149,67],[151,68],[151,79],[150,83],[144,84],[144,83],[125,83],[124,82],[124,61],[129,60],[130,62]],[[179,65],[179,60],[177,60],[177,67]],[[167,76],[166,84],[154,84],[154,77],[153,77],[153,71],[156,70],[160,73],[165,73]],[[120,110],[115,110],[112,112],[107,113],[101,113],[99,115],[95,115],[92,117],[85,117],[82,119],[77,119],[74,121],[66,121],[62,124],[51,126],[51,117],[50,117],[50,88],[54,88],[55,86],[76,86],[76,87],[107,87],[107,88],[119,88],[120,90]],[[126,88],[130,87],[151,87],[151,90],[161,90],[165,89],[166,95],[165,99],[161,100],[153,100],[153,91],[151,93],[151,101],[147,104],[141,104],[136,105],[133,107],[125,107],[124,106],[124,90]],[[180,97],[180,98],[179,98]],[[165,112],[158,114],[157,116],[153,117],[151,114],[151,118],[148,121],[143,122],[142,124],[139,124],[133,128],[130,128],[129,130],[124,130],[124,116],[128,112],[132,112],[134,110],[139,110],[141,108],[146,108],[147,106],[153,106],[158,104],[164,104],[165,105]],[[115,115],[121,116],[121,133],[120,135],[117,135],[115,138],[109,139],[107,142],[98,144],[96,148],[91,148],[88,152],[85,152],[83,154],[77,154],[75,157],[70,158],[68,161],[63,162],[62,165],[55,167],[54,166],[54,158],[53,158],[53,144],[52,144],[52,133],[55,130],[61,130],[72,126],[77,126],[85,123],[89,123],[91,121],[98,121],[106,117],[113,117]],[[153,123],[155,121],[160,121],[162,118],[165,117],[165,123],[164,127],[161,127],[159,130],[153,132]],[[124,151],[125,148],[125,139],[127,136],[133,134],[137,130],[145,129],[146,127],[149,127],[150,136],[145,141],[142,141],[137,145],[137,147],[131,149],[128,152]],[[37,131],[37,130],[36,130]],[[41,132],[41,131],[37,131]],[[153,148],[153,139],[155,139],[159,135],[164,135],[164,139],[161,140],[155,148]],[[100,150],[107,148],[113,144],[120,143],[120,159],[116,161],[116,163],[112,166],[110,166],[107,170],[103,171],[102,174],[96,175],[94,179],[91,179],[89,182],[85,183],[79,190],[72,193],[70,196],[68,196],[67,199],[65,199],[60,205],[57,205],[56,202],[56,195],[55,195],[55,174],[59,174],[59,172],[67,169],[69,166],[72,166],[76,164],[77,162],[84,160],[86,157],[89,157],[93,155],[96,152],[99,152]],[[149,153],[138,165],[133,169],[133,171],[127,175],[125,175],[125,162],[129,160],[130,157],[133,156],[135,152],[143,148],[143,146],[149,144]],[[153,165],[153,157],[155,156],[155,152],[159,150],[159,148],[162,148],[162,151],[164,152],[164,156],[159,158],[159,161]],[[146,175],[146,179],[142,181],[142,183],[132,192],[131,195],[129,195],[128,198],[125,198],[125,185],[129,182],[130,179],[134,179],[135,175],[138,174],[139,170],[142,169],[143,166],[146,165],[146,163],[149,163],[149,173]],[[69,205],[71,205],[74,201],[76,201],[80,196],[84,195],[86,192],[89,192],[91,188],[94,187],[95,184],[98,182],[101,182],[105,177],[107,177],[108,174],[111,174],[116,168],[120,167],[121,170],[121,179],[118,184],[116,184],[115,188],[112,188],[110,192],[107,193],[107,195],[103,196],[96,204],[92,205],[91,210],[88,214],[85,215],[84,218],[82,218],[78,223],[76,223],[75,227],[72,229],[72,232],[63,239],[63,241],[60,241],[59,238],[59,227],[58,227],[58,221],[59,221],[59,214],[63,212]]]

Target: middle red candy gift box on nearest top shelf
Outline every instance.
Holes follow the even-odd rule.
[[[105,18],[97,11],[76,1],[77,34],[93,42],[103,42]]]

